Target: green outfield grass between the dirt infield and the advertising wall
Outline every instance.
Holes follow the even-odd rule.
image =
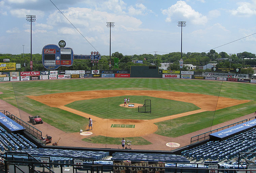
[[[1,82],[0,88],[3,92],[3,94],[0,94],[0,99],[33,116],[40,115],[43,118],[43,121],[65,132],[78,132],[80,129],[84,129],[84,127],[87,126],[87,119],[64,110],[49,107],[29,99],[26,95],[36,96],[61,92],[125,89],[177,91],[252,100],[243,105],[218,110],[215,114],[214,112],[204,112],[173,119],[167,123],[157,123],[159,127],[157,134],[165,136],[180,136],[202,128],[210,127],[211,125],[219,124],[228,121],[229,119],[253,113],[255,112],[256,107],[256,102],[253,100],[256,99],[256,84],[241,82],[162,78],[92,78]],[[15,92],[13,92],[13,90]],[[123,98],[120,100],[120,104],[121,102],[123,102]],[[28,103],[33,104],[33,106]],[[109,106],[109,108],[111,107],[111,109],[115,107],[111,105],[111,103],[108,103],[107,106]],[[236,107],[247,108],[235,111]],[[106,113],[107,117],[112,114],[111,109],[108,109]],[[129,111],[129,109],[131,108],[127,108],[125,111]],[[165,109],[170,110],[170,106],[166,105]],[[161,109],[158,111],[159,114],[161,114],[164,110]],[[223,117],[227,118],[223,119]],[[24,121],[26,122],[28,119],[25,119]],[[161,127],[161,125],[165,127]],[[171,133],[169,133],[169,131],[171,131]]]

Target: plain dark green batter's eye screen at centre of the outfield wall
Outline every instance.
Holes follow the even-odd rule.
[[[158,66],[131,66],[131,78],[162,78]]]

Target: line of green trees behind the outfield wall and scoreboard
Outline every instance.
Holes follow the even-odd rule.
[[[210,50],[208,53],[202,52],[187,52],[182,54],[183,69],[180,69],[179,60],[181,59],[181,52],[171,52],[168,54],[141,54],[141,55],[123,55],[122,53],[115,52],[111,55],[111,69],[114,70],[114,59],[119,59],[118,70],[129,70],[130,66],[161,66],[160,63],[169,63],[168,69],[170,70],[186,70],[186,64],[193,64],[197,66],[193,71],[211,72],[211,69],[202,70],[199,66],[204,66],[208,63],[217,63],[216,67],[225,68],[243,68],[243,74],[253,74],[251,68],[256,64],[256,56],[250,52],[242,52],[237,54],[228,54],[226,52],[217,53],[215,50]],[[255,59],[245,59],[255,58]],[[0,54],[0,62],[3,59],[10,59],[10,62],[16,62],[21,64],[21,69],[16,71],[30,71],[30,54]],[[33,71],[46,71],[42,64],[41,54],[32,54]],[[143,63],[134,63],[134,61],[142,60]],[[24,66],[25,64],[25,66]],[[59,67],[57,70],[108,70],[109,69],[109,56],[101,55],[99,62],[91,63],[89,59],[74,59],[73,65],[70,67]]]

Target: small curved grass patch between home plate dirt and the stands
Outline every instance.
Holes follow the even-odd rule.
[[[100,143],[100,144],[114,144],[114,145],[120,145],[122,138],[114,138],[114,137],[106,137],[106,136],[94,136],[94,137],[88,137],[82,139],[83,141],[90,142],[90,143]],[[125,138],[125,146],[127,141],[132,141],[132,145],[150,145],[151,142],[147,141],[146,139],[142,137],[128,137]],[[132,146],[131,146],[132,147]],[[121,147],[120,147],[121,148]]]

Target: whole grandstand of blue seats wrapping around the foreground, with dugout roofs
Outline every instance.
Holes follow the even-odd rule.
[[[15,121],[10,118],[8,120],[15,124]],[[149,167],[152,165],[155,167],[155,172],[163,170],[165,172],[209,172],[214,165],[217,166],[215,169],[220,172],[226,172],[227,169],[229,172],[235,172],[249,169],[250,164],[255,163],[255,121],[255,119],[250,119],[246,123],[243,122],[243,124],[212,133],[209,135],[209,139],[171,152],[44,146],[36,138],[31,137],[31,133],[26,128],[20,127],[22,130],[13,132],[0,123],[1,160],[5,165],[22,163],[27,165],[28,169],[40,170],[43,168],[48,169],[49,172],[64,167],[69,167],[76,172],[99,170],[117,172],[117,166],[123,170],[129,170],[129,167],[132,169],[133,166],[136,166],[138,170],[141,169],[144,172],[148,170],[149,172]],[[23,123],[18,125],[20,124]],[[17,127],[19,127],[18,125]],[[222,134],[225,135],[222,136]],[[221,137],[216,137],[217,135]],[[42,160],[45,158],[46,162]],[[77,166],[79,162],[82,166]],[[6,166],[1,168],[5,170]],[[9,167],[9,170],[13,169],[19,168]],[[22,169],[26,170],[26,168]]]

